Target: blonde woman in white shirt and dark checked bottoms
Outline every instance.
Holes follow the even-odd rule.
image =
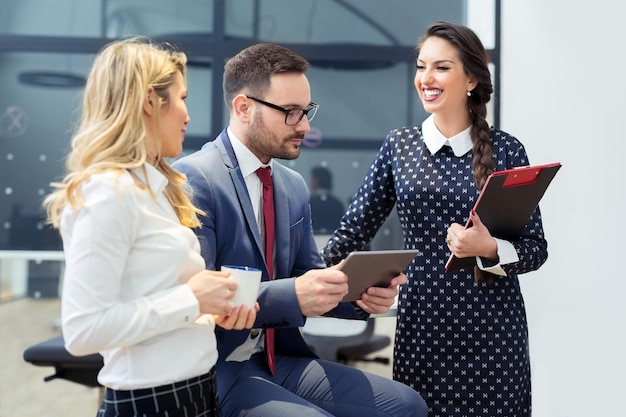
[[[214,327],[250,328],[236,283],[208,271],[200,211],[165,158],[182,151],[186,56],[143,38],[96,57],[67,175],[45,200],[63,238],[62,328],[74,355],[99,352],[98,416],[219,416]]]

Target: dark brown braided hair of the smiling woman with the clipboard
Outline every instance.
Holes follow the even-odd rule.
[[[472,175],[474,184],[479,190],[485,185],[487,177],[495,171],[496,164],[493,160],[491,137],[489,136],[489,124],[487,123],[487,103],[493,93],[491,74],[489,72],[489,55],[482,42],[470,28],[449,22],[436,22],[432,24],[420,38],[418,49],[426,39],[436,36],[444,39],[459,52],[465,74],[474,78],[476,87],[467,98],[468,110],[472,126],[470,137],[472,138]],[[493,283],[493,274],[485,272],[478,267],[474,268],[474,281],[477,283]]]

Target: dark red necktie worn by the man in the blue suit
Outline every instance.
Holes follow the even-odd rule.
[[[270,168],[259,168],[256,174],[263,183],[263,222],[265,223],[265,263],[270,275],[274,279],[274,186]],[[265,329],[265,353],[267,365],[274,375],[274,329]]]

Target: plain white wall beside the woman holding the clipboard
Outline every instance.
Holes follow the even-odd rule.
[[[626,6],[502,3],[500,127],[563,163],[540,206],[548,261],[521,277],[533,417],[623,416]]]

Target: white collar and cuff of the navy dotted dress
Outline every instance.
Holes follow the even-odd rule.
[[[454,156],[461,157],[472,150],[472,138],[470,136],[471,126],[456,135],[447,138],[437,129],[435,118],[431,114],[422,122],[422,134],[424,135],[424,143],[430,153],[436,153],[443,146],[450,146]],[[502,269],[502,265],[514,263],[519,260],[515,247],[511,242],[504,239],[494,238],[498,245],[498,263],[495,265],[485,266],[480,256],[476,257],[476,263],[483,271],[491,272],[495,275],[506,276],[506,272]]]

